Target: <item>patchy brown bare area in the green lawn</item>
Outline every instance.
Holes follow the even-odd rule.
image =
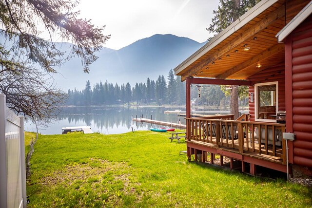
[[[67,197],[67,201],[80,195],[79,206],[86,198],[90,198],[89,201],[98,201],[96,205],[100,206],[105,204],[119,206],[123,195],[136,195],[136,200],[141,198],[140,194],[136,193],[136,187],[140,184],[131,181],[130,169],[131,167],[124,162],[112,163],[90,158],[85,164],[67,165],[61,170],[54,171],[40,182],[43,186],[55,189],[56,192],[58,189],[65,189],[67,193],[64,194],[64,198]],[[77,197],[75,200],[77,201]]]

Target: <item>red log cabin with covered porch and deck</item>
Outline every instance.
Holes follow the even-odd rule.
[[[312,176],[312,1],[260,1],[174,71],[186,81],[189,160]],[[191,117],[192,84],[248,86],[249,114]]]

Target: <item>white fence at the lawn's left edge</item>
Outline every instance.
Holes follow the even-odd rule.
[[[0,208],[26,208],[24,120],[0,94]]]

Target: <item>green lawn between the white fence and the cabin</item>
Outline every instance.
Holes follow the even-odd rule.
[[[40,135],[28,207],[311,207],[312,192],[188,162],[168,133]]]

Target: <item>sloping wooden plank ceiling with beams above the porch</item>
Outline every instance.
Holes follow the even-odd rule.
[[[246,80],[284,62],[284,45],[275,37],[284,26],[284,1],[277,1],[202,56],[180,64],[175,69],[176,75],[182,80],[189,76]],[[203,47],[210,44],[213,43],[208,42]],[[250,50],[245,51],[247,47]]]

